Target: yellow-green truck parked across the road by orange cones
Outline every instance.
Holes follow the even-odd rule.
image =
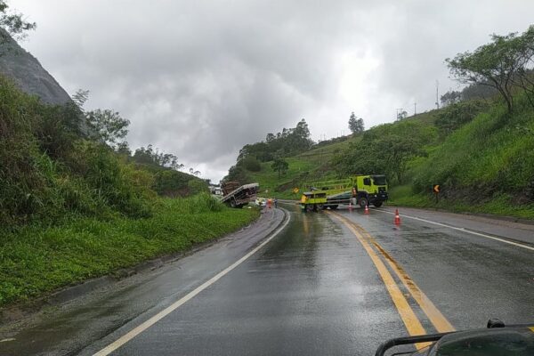
[[[304,211],[336,209],[340,205],[382,206],[387,200],[387,181],[383,174],[352,175],[342,180],[311,182],[301,197]]]

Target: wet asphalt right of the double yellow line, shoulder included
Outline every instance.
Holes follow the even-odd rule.
[[[369,215],[340,213],[368,231],[455,328],[483,328],[490,318],[510,324],[534,321],[534,225],[403,208],[401,215],[467,231],[406,216],[396,227],[392,214],[373,209]],[[530,249],[469,231],[528,241]]]

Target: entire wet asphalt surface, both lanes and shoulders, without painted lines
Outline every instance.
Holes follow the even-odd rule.
[[[354,229],[373,239],[378,259],[386,266],[388,258],[396,263],[452,328],[481,328],[490,318],[508,323],[534,320],[534,251],[490,239],[534,243],[532,225],[406,209],[401,211],[401,225],[395,226],[389,209],[303,214],[297,206],[284,207],[291,220],[267,245],[111,354],[374,354],[385,339],[408,335],[409,327],[393,301],[391,286],[385,286]],[[350,222],[357,227],[351,229]],[[150,279],[93,297],[23,330],[15,342],[0,343],[0,354],[98,352],[261,239],[252,231],[246,238],[230,238]],[[425,311],[392,267],[387,270],[425,332],[436,332],[435,315]],[[58,335],[60,323],[67,323],[65,329],[72,332]],[[47,337],[48,344],[43,341]]]

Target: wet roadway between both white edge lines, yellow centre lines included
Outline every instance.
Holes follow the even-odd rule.
[[[528,250],[376,211],[290,208],[277,239],[115,354],[364,355],[394,336],[534,319]]]

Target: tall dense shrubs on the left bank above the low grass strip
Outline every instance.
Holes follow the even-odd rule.
[[[73,104],[47,106],[0,76],[0,225],[57,223],[72,214],[150,215],[152,174],[87,142]]]

